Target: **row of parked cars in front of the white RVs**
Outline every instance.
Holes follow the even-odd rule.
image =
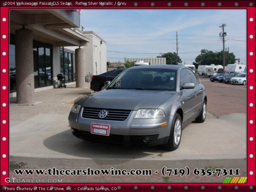
[[[216,76],[211,76],[210,81],[246,85],[246,73],[219,73]]]

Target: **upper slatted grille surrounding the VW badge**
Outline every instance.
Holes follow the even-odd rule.
[[[110,121],[125,121],[131,113],[131,110],[105,109],[108,115],[105,118],[99,117],[99,112],[104,108],[84,108],[82,117],[89,119],[102,119]]]

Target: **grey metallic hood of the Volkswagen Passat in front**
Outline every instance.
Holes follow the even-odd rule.
[[[88,95],[78,101],[83,107],[138,110],[140,108],[158,108],[176,92],[151,90],[111,90],[106,89]]]

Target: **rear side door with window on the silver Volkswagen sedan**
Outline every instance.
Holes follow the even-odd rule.
[[[190,76],[191,82],[195,84],[195,99],[193,102],[193,111],[196,113],[199,111],[202,107],[202,101],[203,101],[203,92],[204,92],[204,86],[199,83],[199,80],[197,79],[196,75],[193,73],[193,71],[186,69],[188,71],[188,74]]]

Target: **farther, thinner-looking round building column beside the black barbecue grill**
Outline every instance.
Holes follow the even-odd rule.
[[[85,66],[84,66],[84,49],[75,50],[76,60],[76,87],[85,87]]]

